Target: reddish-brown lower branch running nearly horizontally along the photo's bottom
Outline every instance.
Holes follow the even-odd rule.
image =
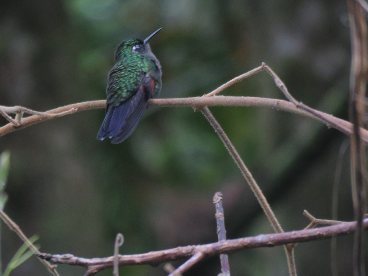
[[[273,247],[290,243],[302,243],[315,240],[325,240],[332,236],[348,235],[355,232],[356,222],[343,222],[333,226],[320,228],[290,231],[276,234],[262,234],[254,237],[238,238],[233,240],[218,241],[216,243],[203,245],[188,245],[162,251],[152,251],[144,254],[119,255],[119,265],[153,265],[173,260],[186,259],[196,252],[202,252],[205,257],[215,256],[223,253],[231,254],[247,248]],[[364,229],[368,229],[368,219],[363,221]],[[95,267],[99,270],[112,268],[114,256],[106,258],[81,258],[71,254],[52,255],[37,254],[40,258],[54,264],[68,264],[84,266],[85,268]]]

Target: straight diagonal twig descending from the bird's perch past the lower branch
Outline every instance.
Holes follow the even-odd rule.
[[[215,117],[213,117],[212,113],[209,111],[208,107],[202,107],[200,109],[202,114],[206,117],[210,125],[212,125],[213,129],[219,135],[221,141],[223,142],[224,146],[226,147],[227,151],[229,152],[230,156],[233,158],[234,162],[237,164],[238,168],[240,169],[241,173],[243,174],[245,180],[247,181],[248,185],[250,186],[252,192],[254,193],[255,197],[257,198],[259,205],[261,205],[263,212],[265,212],[271,226],[275,230],[276,233],[282,233],[282,227],[277,220],[275,214],[273,213],[270,205],[267,202],[266,197],[263,195],[262,190],[259,188],[258,184],[254,180],[251,172],[248,170],[247,166],[245,166],[243,160],[240,158],[240,155],[234,148],[233,144],[231,143],[229,137],[227,137],[226,133],[223,131],[220,124],[216,121]],[[296,267],[295,267],[295,260],[293,254],[293,248],[284,246],[286,257],[287,257],[287,264],[289,267],[289,273],[291,276],[296,276]]]

